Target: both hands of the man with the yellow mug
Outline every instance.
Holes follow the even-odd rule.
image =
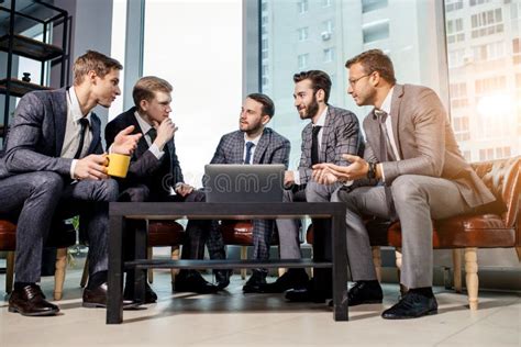
[[[132,134],[134,125],[125,127],[114,138],[114,143],[111,146],[111,153],[132,155],[137,147],[142,134]],[[91,154],[85,158],[78,159],[74,170],[74,177],[77,180],[92,179],[101,180],[107,179],[107,154]]]

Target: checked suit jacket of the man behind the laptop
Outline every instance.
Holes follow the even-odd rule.
[[[244,145],[244,133],[241,131],[222,136],[210,164],[243,164]],[[284,164],[288,168],[290,149],[286,137],[265,127],[255,147],[253,164]]]

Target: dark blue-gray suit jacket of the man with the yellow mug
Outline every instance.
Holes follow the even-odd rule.
[[[54,171],[70,177],[73,159],[60,158],[67,124],[67,88],[33,91],[20,100],[9,130],[0,178],[21,172]],[[88,154],[102,154],[100,119],[92,113]]]

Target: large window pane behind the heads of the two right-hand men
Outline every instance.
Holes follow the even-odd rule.
[[[357,107],[346,92],[347,58],[369,48],[384,49],[393,59],[400,82],[429,86],[439,92],[439,78],[446,75],[439,71],[436,58],[432,59],[436,40],[429,35],[435,30],[424,20],[432,16],[435,1],[398,1],[400,5],[390,7],[387,0],[363,0],[362,8],[357,1],[332,1],[330,7],[320,3],[309,1],[307,14],[301,15],[301,1],[268,0],[269,81],[262,90],[277,109],[270,126],[291,142],[290,168],[299,164],[301,131],[307,124],[293,107],[293,74],[309,69],[328,72],[333,83],[329,102],[352,110],[361,120],[370,108]],[[303,27],[309,27],[307,41],[300,41]],[[448,102],[446,96],[443,98]]]

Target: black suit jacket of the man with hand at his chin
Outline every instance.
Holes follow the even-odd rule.
[[[168,194],[169,192],[165,190],[164,183],[175,187],[176,183],[184,182],[182,170],[176,155],[174,138],[165,145],[165,154],[163,157],[157,159],[156,156],[148,150],[145,134],[135,119],[135,111],[136,109],[134,107],[121,113],[109,122],[104,130],[107,146],[110,146],[114,142],[114,137],[119,132],[130,125],[134,125],[133,134],[143,134],[137,142],[137,148],[132,154],[126,178],[120,180],[120,184],[122,186],[121,190],[136,184],[145,184],[154,194]],[[170,172],[173,172],[171,177]]]

